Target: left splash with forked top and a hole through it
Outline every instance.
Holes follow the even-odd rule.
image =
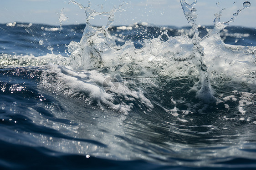
[[[87,17],[86,27],[80,42],[72,41],[68,45],[68,51],[71,53],[70,66],[76,70],[100,68],[103,66],[102,51],[116,46],[115,40],[108,32],[108,28],[114,22],[114,14],[118,11],[123,11],[121,9],[122,5],[119,8],[113,7],[110,11],[97,12],[90,8],[92,5],[90,1],[88,1],[87,7],[74,0],[70,2],[83,9]],[[90,23],[90,20],[99,15],[108,17],[107,25],[103,25],[101,28],[94,27]]]

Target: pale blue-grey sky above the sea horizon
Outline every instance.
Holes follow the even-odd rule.
[[[84,6],[87,0],[76,0]],[[118,7],[124,0],[91,0],[92,9],[96,11],[109,11],[115,5]],[[194,0],[186,0],[192,3]],[[214,14],[222,8],[226,10],[221,17],[222,22],[230,20],[233,13],[243,8],[245,0],[197,0],[194,6],[197,9],[198,25],[213,25]],[[251,7],[242,11],[231,26],[239,25],[256,28],[256,0],[249,0]],[[152,25],[187,26],[179,0],[126,0],[122,9],[115,13],[113,25],[132,25],[133,23],[147,22]],[[219,2],[220,5],[216,5]],[[235,2],[235,4],[234,4]],[[102,5],[101,5],[102,4]],[[103,8],[102,8],[103,6]],[[101,9],[102,8],[102,9]],[[68,20],[63,25],[84,24],[86,15],[84,10],[69,0],[1,0],[0,23],[26,22],[48,25],[60,25],[61,9]],[[96,17],[92,25],[106,25],[107,18]]]

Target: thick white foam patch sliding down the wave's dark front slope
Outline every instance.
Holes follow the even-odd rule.
[[[75,71],[69,66],[48,65],[43,71],[39,87],[53,91],[57,95],[67,95],[84,100],[85,105],[96,104],[100,108],[128,114],[133,109],[134,100],[150,111],[151,104],[140,89],[131,90],[120,76],[119,82],[97,70]],[[117,80],[116,78],[114,80]]]

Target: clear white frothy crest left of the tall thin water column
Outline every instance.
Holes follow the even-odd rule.
[[[135,49],[130,41],[118,46],[108,30],[91,25],[86,25],[80,42],[72,41],[68,45],[73,69],[115,67],[112,70],[125,75],[150,75],[150,72],[176,77],[195,75],[197,70],[189,56],[192,50],[192,41],[186,35],[170,37],[166,42],[144,40],[141,49]]]

